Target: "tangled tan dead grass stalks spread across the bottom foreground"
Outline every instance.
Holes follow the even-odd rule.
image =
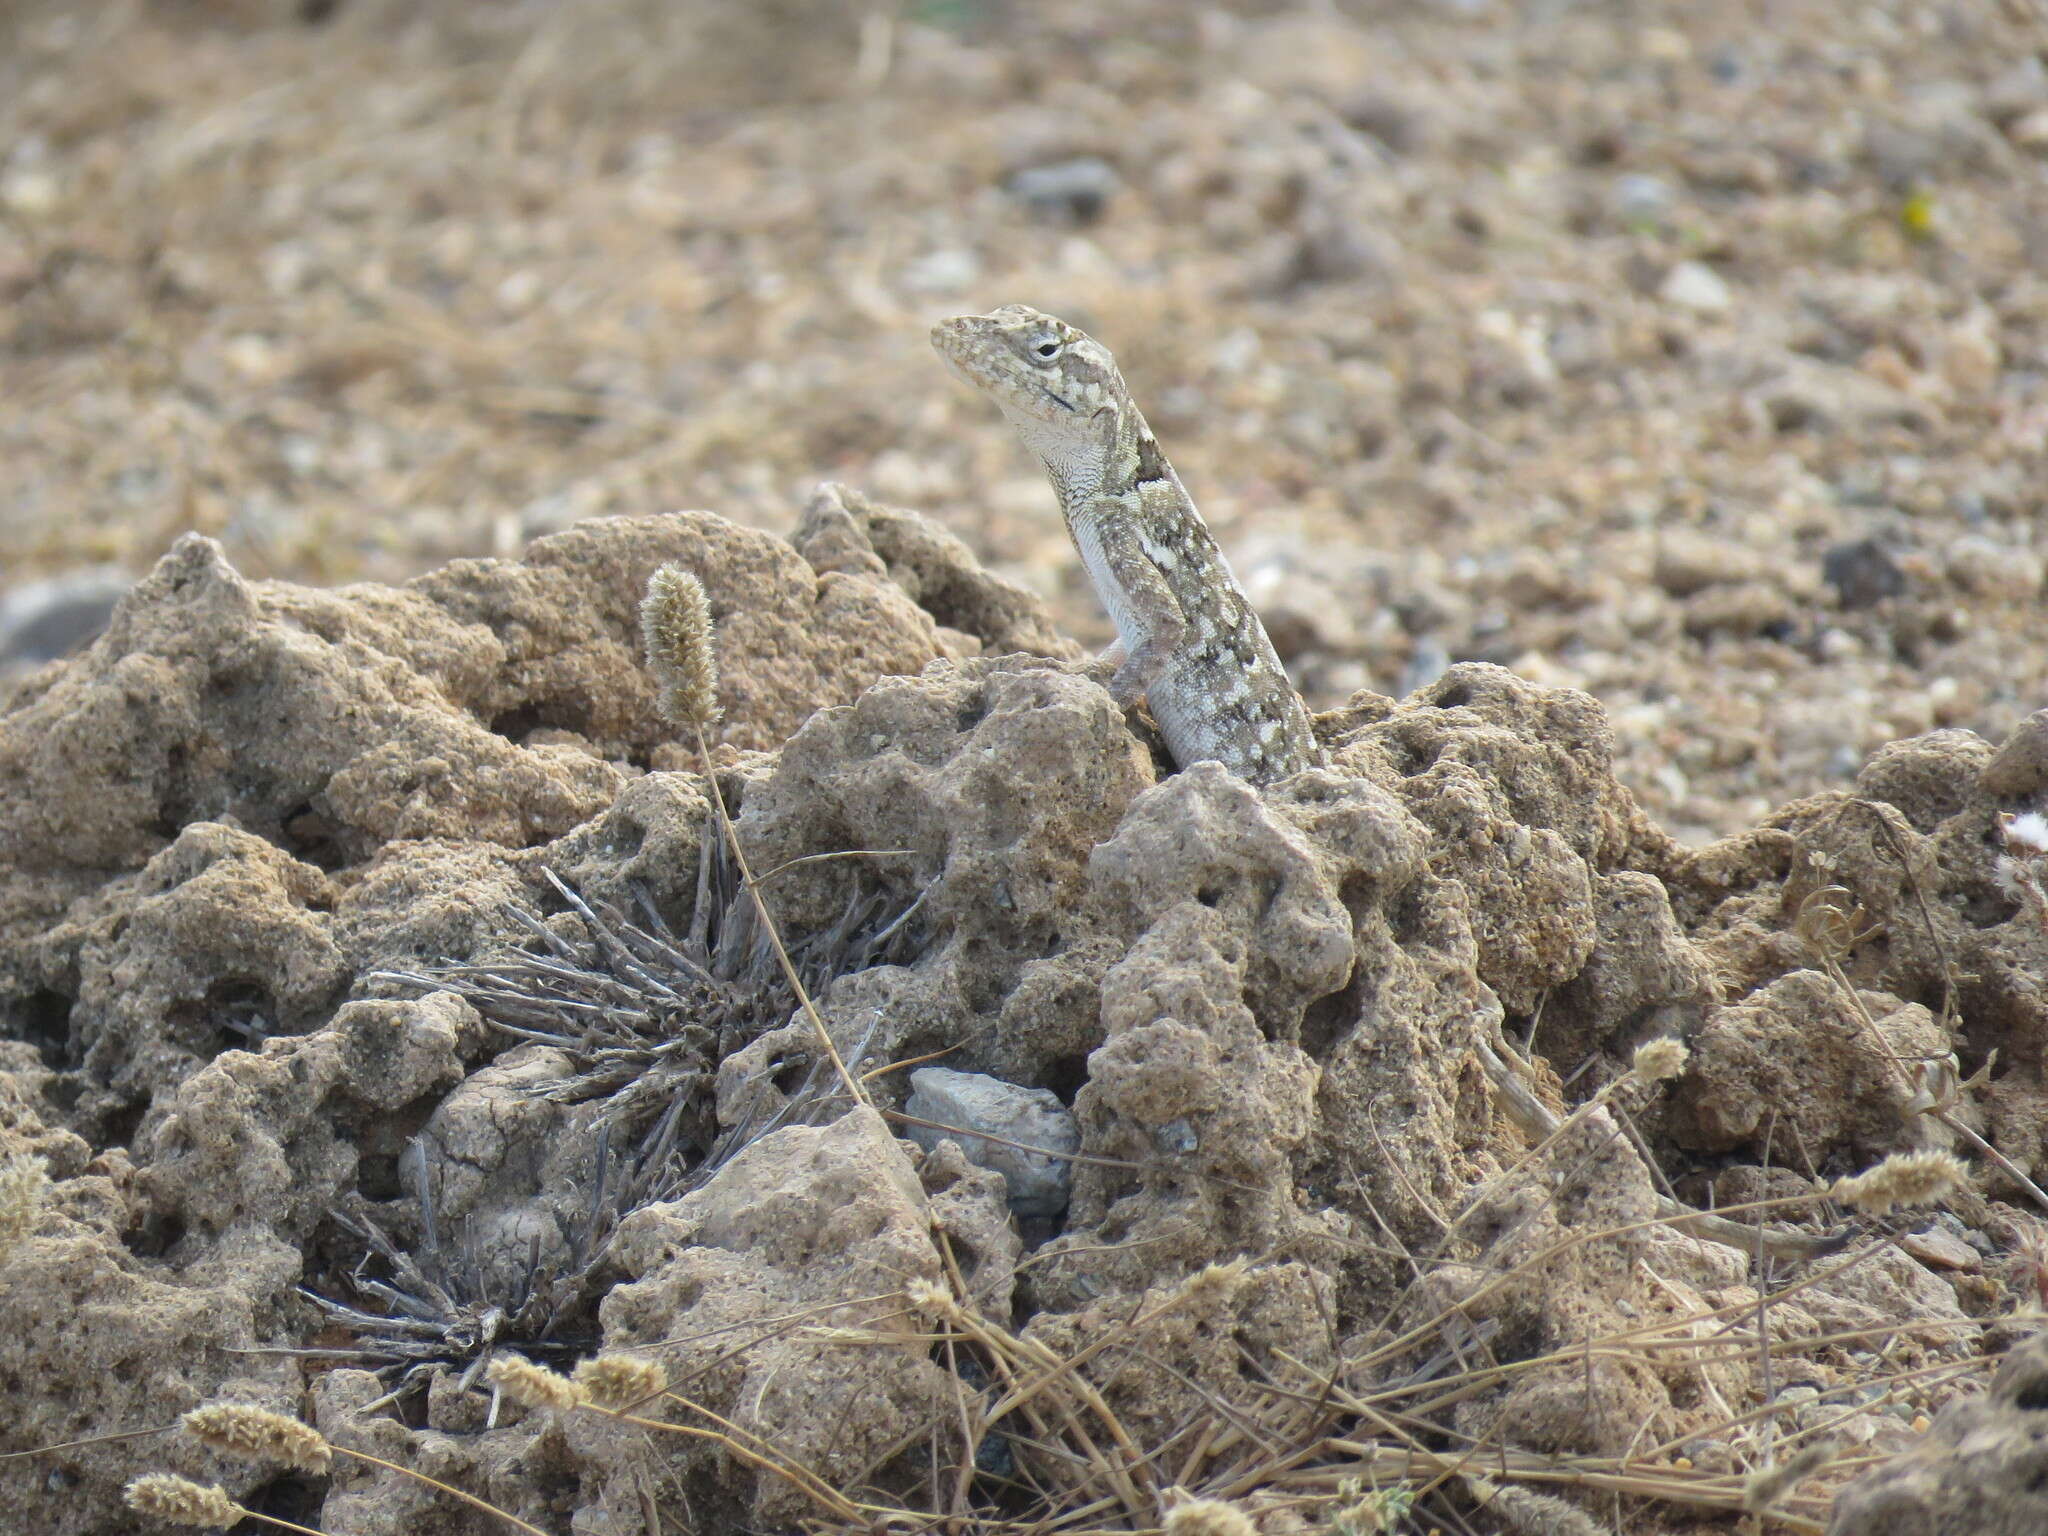
[[[1909,1180],[1915,1198],[1939,1198],[1956,1188],[1954,1159],[1942,1157],[1939,1167],[1929,1163]],[[1896,1186],[1905,1176],[1901,1159],[1890,1159],[1860,1178]],[[1774,1210],[1782,1217],[1800,1208],[1825,1214],[1827,1194],[1757,1202],[1729,1214]],[[1571,1233],[1491,1276],[1481,1290],[1546,1274],[1561,1249],[1626,1237],[1628,1229]],[[860,1479],[858,1491],[827,1483],[772,1436],[694,1399],[653,1358],[598,1356],[563,1376],[524,1358],[498,1356],[485,1384],[528,1409],[602,1413],[651,1436],[715,1446],[731,1462],[801,1493],[813,1509],[815,1530],[848,1536],[881,1528],[973,1536],[1044,1530],[1231,1536],[1253,1530],[1255,1516],[1274,1507],[1348,1536],[1397,1532],[1409,1528],[1405,1522],[1450,1524],[1458,1511],[1473,1509],[1530,1536],[1638,1530],[1659,1509],[1749,1516],[1761,1522],[1759,1530],[1821,1532],[1833,1489],[1886,1460],[1884,1450],[1841,1450],[1839,1436],[1849,1421],[1888,1403],[1919,1405],[1929,1393],[1993,1364],[1950,1356],[1894,1366],[1886,1356],[1890,1339],[1966,1333],[1995,1319],[1898,1317],[1821,1337],[1753,1325],[1767,1309],[1796,1300],[1890,1241],[1878,1231],[1841,1243],[1827,1264],[1753,1300],[1647,1317],[1526,1358],[1493,1354],[1470,1325],[1483,1296],[1468,1294],[1325,1370],[1309,1370],[1278,1352],[1243,1378],[1243,1391],[1200,1393],[1180,1421],[1126,1419],[1112,1380],[1155,1360],[1161,1323],[1190,1309],[1229,1309],[1255,1282],[1260,1264],[1210,1266],[1178,1286],[1147,1292],[1116,1321],[1067,1348],[1053,1348],[1006,1317],[985,1315],[948,1264],[944,1280],[905,1286],[893,1317],[848,1327],[829,1309],[819,1309],[815,1317],[762,1323],[725,1352],[725,1358],[741,1358],[793,1335],[813,1350],[903,1348],[903,1321],[920,1321],[915,1348],[948,1366],[950,1401],[932,1405],[922,1440],[895,1446],[874,1464],[877,1470],[915,1464],[915,1473],[895,1481]],[[1432,1264],[1421,1262],[1421,1272]],[[1794,1417],[1792,1407],[1767,1391],[1774,1370],[1782,1378],[1800,1362],[1823,1356],[1839,1362],[1864,1350],[1878,1364],[1841,1374],[1823,1395],[1821,1411]],[[1427,1368],[1415,1368],[1417,1360],[1427,1360]],[[1532,1372],[1577,1374],[1608,1360],[1645,1364],[1665,1376],[1743,1362],[1755,1401],[1726,1401],[1718,1421],[1692,1421],[1683,1434],[1663,1440],[1645,1436],[1626,1454],[1534,1452],[1513,1444],[1511,1425],[1495,1423],[1477,1438],[1460,1427],[1473,1423],[1460,1417],[1460,1405]],[[1827,1405],[1839,1407],[1827,1411]],[[211,1446],[256,1460],[319,1470],[332,1456],[354,1456],[414,1477],[266,1409],[213,1405],[188,1413],[184,1425]],[[1698,1444],[1722,1446],[1724,1464],[1694,1464],[1686,1450]],[[532,1530],[483,1499],[449,1491],[516,1530]],[[147,1483],[133,1497],[158,1509],[225,1513],[205,1489]]]

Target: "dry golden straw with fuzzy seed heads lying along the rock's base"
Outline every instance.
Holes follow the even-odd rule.
[[[1958,1169],[1956,1159],[1942,1153],[1921,1153],[1890,1159],[1888,1171],[1880,1167],[1872,1174],[1884,1171],[1882,1182],[1894,1194],[1925,1194],[1954,1178]],[[1817,1200],[1819,1196],[1806,1198]],[[1536,1274],[1559,1249],[1612,1235],[1577,1233],[1567,1243],[1526,1257],[1513,1266],[1509,1276]],[[1858,1255],[1851,1253],[1839,1260],[1833,1270],[1794,1282],[1794,1288],[1780,1292],[1780,1296],[1796,1294],[1798,1286],[1825,1280],[1827,1274],[1855,1262]],[[1460,1485],[1475,1503],[1485,1507],[1489,1518],[1499,1522],[1503,1532],[1516,1532],[1516,1536],[1612,1536],[1610,1528],[1577,1503],[1559,1497],[1567,1491],[1573,1491],[1575,1497],[1649,1499],[1726,1516],[1749,1511],[1759,1520],[1759,1532],[1790,1530],[1819,1536],[1827,1513],[1827,1491],[1802,1491],[1800,1479],[1821,1470],[1847,1477],[1882,1460],[1882,1456],[1862,1452],[1831,1458],[1825,1448],[1808,1450],[1806,1446],[1819,1438],[1825,1425],[1786,1434],[1776,1427],[1774,1407],[1735,1413],[1720,1425],[1704,1430],[1704,1434],[1718,1434],[1735,1446],[1755,1446],[1755,1462],[1763,1462],[1772,1452],[1782,1456],[1778,1464],[1767,1464],[1747,1477],[1741,1470],[1708,1473],[1673,1460],[1681,1444],[1677,1438],[1657,1446],[1638,1446],[1626,1456],[1538,1454],[1499,1442],[1448,1448],[1427,1444],[1434,1438],[1430,1425],[1438,1423],[1446,1411],[1528,1370],[1577,1366],[1593,1356],[1702,1366],[1735,1360],[1753,1346],[1729,1335],[1722,1325],[1747,1317],[1753,1311],[1747,1300],[1696,1311],[1681,1319],[1651,1319],[1626,1331],[1575,1341],[1532,1360],[1491,1362],[1475,1358],[1464,1368],[1423,1376],[1397,1370],[1397,1366],[1413,1358],[1417,1346],[1430,1346],[1444,1337],[1448,1313],[1432,1317],[1411,1333],[1384,1339],[1366,1356],[1350,1358],[1346,1364],[1348,1380],[1292,1362],[1282,1352],[1278,1360],[1294,1374],[1276,1374],[1253,1399],[1214,1403],[1204,1425],[1184,1425],[1174,1450],[1163,1452],[1145,1425],[1120,1421],[1112,1399],[1092,1378],[1096,1372],[1092,1362],[1104,1356],[1114,1360],[1122,1354],[1143,1358],[1151,1348],[1149,1335],[1157,1323],[1176,1311],[1214,1303],[1249,1284],[1257,1276],[1255,1264],[1210,1266],[1159,1303],[1124,1317],[1118,1327],[1073,1350],[1055,1350],[1044,1339],[1014,1333],[1001,1321],[983,1317],[961,1303],[958,1286],[963,1282],[950,1260],[946,1274],[952,1282],[950,1288],[944,1282],[920,1278],[903,1286],[899,1296],[938,1325],[936,1341],[948,1358],[971,1356],[987,1378],[987,1391],[975,1399],[969,1399],[965,1386],[958,1389],[956,1415],[950,1417],[950,1423],[961,1454],[954,1456],[938,1440],[932,1442],[932,1454],[942,1458],[934,1464],[944,1464],[944,1458],[954,1456],[950,1470],[940,1479],[940,1485],[950,1487],[942,1487],[940,1497],[944,1507],[954,1511],[963,1536],[1024,1536],[1030,1530],[1042,1532],[1051,1524],[1075,1530],[1106,1530],[1112,1524],[1149,1530],[1163,1526],[1165,1536],[1251,1536],[1255,1522],[1249,1518],[1245,1501],[1253,1497],[1282,1499],[1305,1516],[1321,1516],[1331,1530],[1350,1532],[1350,1536],[1368,1536],[1368,1532],[1386,1536],[1386,1532],[1415,1524],[1419,1501],[1430,1497],[1434,1489]],[[788,1327],[791,1319],[778,1319],[756,1341],[776,1337]],[[1896,1327],[1901,1323],[1886,1323],[1806,1343],[1847,1343],[1880,1337]],[[901,1346],[901,1335],[895,1331],[868,1333],[838,1323],[801,1327],[801,1331],[819,1348]],[[1921,1391],[1942,1378],[1982,1370],[1985,1364],[1980,1358],[1939,1362],[1909,1372],[1890,1372],[1878,1380],[1890,1391]],[[565,1380],[530,1362],[504,1360],[494,1368],[492,1378],[498,1384],[516,1386],[514,1395],[522,1401],[571,1411],[602,1411],[649,1434],[715,1444],[733,1460],[776,1477],[801,1493],[813,1505],[821,1532],[846,1536],[877,1528],[934,1528],[932,1509],[922,1503],[872,1503],[842,1491],[840,1479],[827,1479],[770,1438],[733,1423],[711,1405],[680,1393],[676,1384],[666,1384],[666,1372],[657,1362],[623,1354],[600,1356],[586,1360],[575,1378]],[[662,1397],[664,1409],[674,1419],[641,1417],[629,1411],[629,1395],[649,1393]],[[946,1415],[940,1419],[944,1421]],[[246,1454],[285,1460],[317,1458],[319,1454],[356,1456],[420,1479],[410,1468],[346,1446],[330,1446],[313,1430],[266,1409],[225,1405],[188,1415],[188,1423],[195,1423],[195,1430],[205,1430],[217,1444]],[[1761,1442],[1757,1440],[1759,1432]],[[934,1430],[934,1434],[942,1432]],[[1688,1430],[1690,1434],[1702,1432]],[[1028,1452],[1032,1460],[1030,1477],[1040,1503],[1022,1518],[979,1507],[975,1497],[979,1458],[971,1454],[971,1448],[989,1444],[997,1436],[1020,1454]],[[911,1436],[887,1448],[883,1460],[911,1450],[918,1436]],[[1483,1473],[1475,1464],[1481,1456],[1485,1460]],[[1743,1458],[1749,1460],[1747,1454]],[[539,1536],[535,1526],[481,1499],[432,1483],[432,1479],[420,1481],[489,1509],[516,1530]],[[1372,1493],[1360,1497],[1366,1487]],[[152,1511],[188,1511],[207,1520],[229,1509],[199,1485],[178,1481],[150,1481],[131,1495],[131,1501],[135,1499],[145,1501]],[[285,1528],[299,1530],[297,1526]]]

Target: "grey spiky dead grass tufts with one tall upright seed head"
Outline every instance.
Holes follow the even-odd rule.
[[[702,731],[717,719],[719,698],[700,582],[674,565],[655,571],[643,631],[664,709],[696,737],[709,768]],[[412,1241],[367,1214],[334,1212],[367,1247],[348,1276],[360,1303],[307,1294],[354,1335],[348,1354],[395,1380],[395,1391],[416,1389],[440,1368],[457,1370],[469,1386],[506,1346],[582,1354],[596,1341],[594,1280],[631,1210],[680,1198],[778,1126],[866,1102],[811,997],[840,975],[913,958],[924,940],[915,924],[922,895],[893,903],[856,883],[838,922],[788,942],[745,862],[715,772],[705,786],[719,836],[698,844],[686,934],[645,895],[629,915],[586,901],[543,870],[563,911],[541,918],[514,907],[510,915],[528,932],[520,946],[418,973],[377,973],[418,991],[455,991],[502,1034],[563,1051],[578,1073],[547,1096],[600,1106],[588,1204],[567,1233],[565,1266],[535,1264],[510,1278],[483,1266],[467,1233],[446,1231],[436,1214],[438,1153],[430,1141],[420,1143],[414,1163],[420,1229]],[[793,1010],[811,1024],[813,1061],[791,1092],[752,1098],[748,1114],[721,1130],[717,1063],[784,1024]]]

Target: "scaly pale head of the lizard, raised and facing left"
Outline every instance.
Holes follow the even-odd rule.
[[[1030,305],[942,319],[932,326],[932,346],[1018,426],[1083,426],[1124,399],[1110,350]]]

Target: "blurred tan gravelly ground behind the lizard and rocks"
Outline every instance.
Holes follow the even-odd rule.
[[[932,358],[1108,342],[1319,707],[1505,662],[1679,836],[2048,702],[2038,0],[0,10],[0,629],[846,479],[1106,625]],[[84,571],[86,575],[80,575]]]

